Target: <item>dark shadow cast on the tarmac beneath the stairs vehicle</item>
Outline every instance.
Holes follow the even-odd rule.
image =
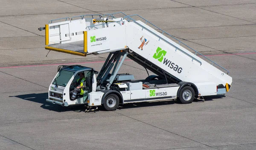
[[[48,98],[48,93],[32,93],[32,94],[9,96],[9,97],[17,97],[17,98],[28,100],[31,102],[41,103],[42,104],[41,108],[56,111],[56,112],[74,111],[74,112],[80,113],[80,112],[84,112],[86,109],[84,105],[62,107],[60,105],[46,102],[46,99]],[[195,99],[193,102],[207,102],[207,101],[212,101],[213,99],[222,99],[222,97],[225,97],[225,96],[224,95],[205,96],[204,101]],[[125,105],[119,105],[117,109],[122,110],[122,109],[129,109],[129,108],[142,108],[142,107],[152,107],[152,106],[172,105],[172,104],[183,105],[179,100],[171,100],[171,101],[165,100],[165,101],[155,101],[155,102],[129,103]],[[105,111],[105,109],[99,106],[98,110],[96,111]]]

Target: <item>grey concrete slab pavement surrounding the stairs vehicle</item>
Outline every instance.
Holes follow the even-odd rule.
[[[188,105],[143,102],[95,113],[47,103],[59,64],[99,71],[107,54],[46,57],[38,28],[119,11],[139,14],[227,68],[230,92]],[[0,150],[256,150],[255,18],[255,0],[1,0]],[[147,76],[129,59],[119,73]]]

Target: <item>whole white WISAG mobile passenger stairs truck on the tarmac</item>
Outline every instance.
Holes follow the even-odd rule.
[[[116,14],[123,17],[115,18]],[[201,96],[225,94],[231,87],[229,71],[139,15],[118,12],[57,20],[63,19],[57,23],[50,20],[38,28],[45,30],[45,49],[83,57],[109,55],[100,71],[81,65],[60,66],[49,86],[47,102],[88,108],[103,105],[106,110],[116,110],[119,104],[164,99],[186,104]],[[126,57],[156,75],[134,80],[131,74],[118,74]],[[80,72],[86,78],[86,92],[72,101],[72,83]]]

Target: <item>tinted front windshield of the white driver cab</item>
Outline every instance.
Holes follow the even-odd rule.
[[[66,87],[67,82],[74,75],[74,72],[67,70],[60,70],[52,84]]]

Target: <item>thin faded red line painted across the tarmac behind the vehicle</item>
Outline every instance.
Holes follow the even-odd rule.
[[[256,52],[252,53],[237,53],[237,54],[216,54],[216,55],[204,55],[204,56],[228,56],[228,55],[245,55],[245,54],[256,54]],[[202,56],[198,56],[202,57]],[[131,61],[131,59],[125,60]],[[51,66],[51,65],[72,65],[72,64],[86,64],[86,63],[99,63],[105,61],[96,61],[96,62],[71,62],[71,63],[62,63],[62,64],[46,64],[46,65],[23,65],[23,66],[10,66],[10,67],[0,67],[0,68],[22,68],[22,67],[39,67],[39,66]]]

